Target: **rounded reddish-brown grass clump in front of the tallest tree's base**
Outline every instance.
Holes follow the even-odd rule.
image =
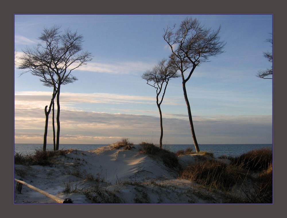
[[[246,176],[247,171],[240,167],[209,159],[197,161],[180,172],[182,179],[189,179],[201,186],[225,191],[238,181],[245,180]]]

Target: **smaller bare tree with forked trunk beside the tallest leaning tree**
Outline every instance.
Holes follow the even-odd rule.
[[[167,62],[166,59],[161,60],[152,70],[146,70],[146,72],[141,75],[141,78],[145,79],[148,85],[156,89],[156,105],[160,113],[160,148],[162,148],[163,137],[162,111],[160,105],[162,104],[168,81],[178,77],[180,77],[180,75],[177,74],[177,69],[170,64],[170,61]],[[162,93],[161,97],[159,97],[160,93]]]

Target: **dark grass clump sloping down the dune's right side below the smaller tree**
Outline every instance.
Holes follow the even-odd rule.
[[[177,155],[175,155],[173,152],[160,148],[153,143],[141,142],[140,145],[143,146],[143,149],[139,150],[139,154],[148,154],[152,157],[158,156],[167,167],[179,167]]]

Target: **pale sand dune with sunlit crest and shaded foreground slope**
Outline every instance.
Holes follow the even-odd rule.
[[[141,148],[135,145],[131,150],[113,149],[110,145],[91,151],[73,150],[57,157],[53,166],[15,165],[15,179],[22,178],[36,188],[62,199],[70,198],[77,204],[221,203],[221,199],[197,184],[178,179],[178,169],[166,167],[158,158],[138,154]],[[181,156],[179,162],[184,166],[196,157]],[[63,192],[67,184],[76,193]],[[15,181],[15,188],[16,185]],[[94,201],[84,192],[93,196]],[[24,185],[21,193],[14,193],[15,204],[57,203]]]

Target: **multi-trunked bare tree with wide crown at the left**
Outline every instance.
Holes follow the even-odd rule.
[[[77,31],[72,32],[69,28],[61,34],[59,26],[44,28],[40,37],[41,43],[36,47],[26,48],[20,57],[20,69],[28,69],[23,72],[31,72],[32,75],[40,77],[45,86],[53,87],[53,95],[49,110],[45,107],[46,122],[47,114],[53,107],[54,98],[57,97],[57,139],[54,150],[59,150],[60,138],[60,88],[61,85],[73,83],[77,80],[72,70],[92,60],[90,52],[83,52],[83,36]],[[22,74],[23,74],[22,73]],[[45,123],[46,126],[46,123]],[[45,131],[46,133],[46,131]],[[44,139],[45,140],[45,139]],[[44,148],[44,145],[43,145]]]

